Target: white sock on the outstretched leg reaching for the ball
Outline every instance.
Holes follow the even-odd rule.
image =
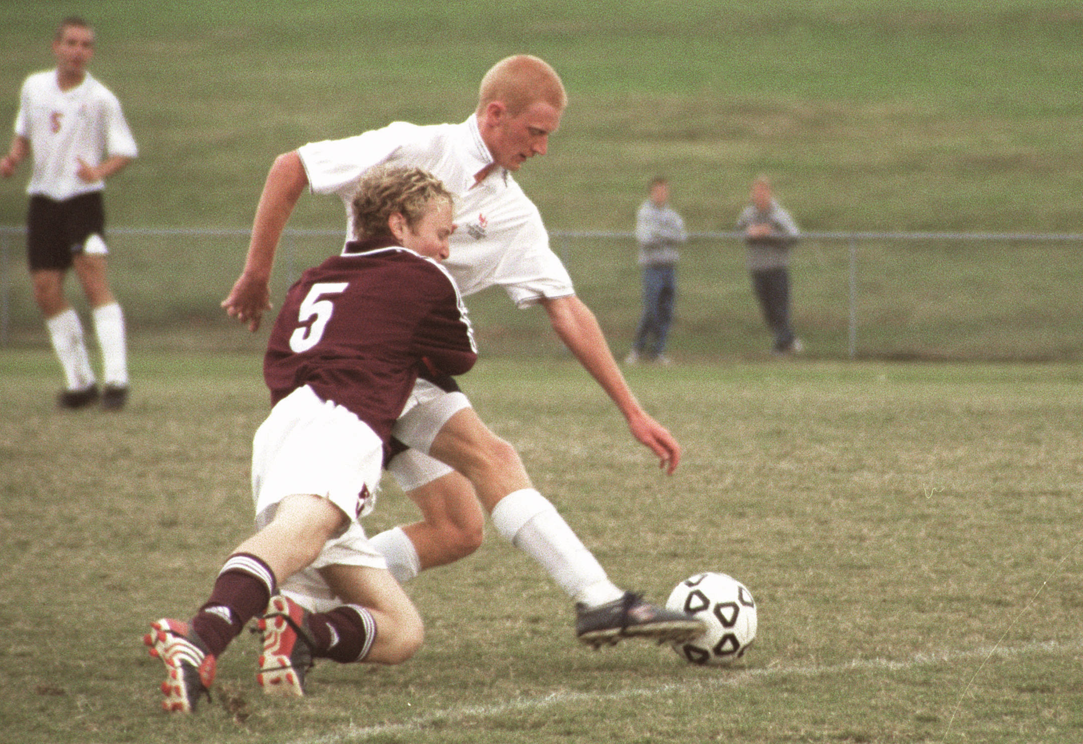
[[[534,489],[514,491],[501,499],[493,509],[493,526],[505,540],[537,561],[572,599],[592,607],[624,595],[557,507]]]

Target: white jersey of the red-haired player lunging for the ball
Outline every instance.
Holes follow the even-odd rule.
[[[315,194],[338,194],[347,205],[357,182],[374,165],[421,168],[455,195],[451,256],[444,267],[464,295],[498,284],[519,307],[575,293],[567,269],[549,248],[542,215],[505,169],[480,184],[474,174],[493,162],[477,118],[461,124],[420,127],[397,121],[345,140],[298,149]]]

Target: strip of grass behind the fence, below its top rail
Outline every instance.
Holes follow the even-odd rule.
[[[290,277],[334,250],[334,237],[297,237],[285,244],[274,275],[275,305]],[[235,278],[236,237],[121,235],[114,240],[116,291],[132,329],[133,348],[259,351],[256,336],[227,321],[219,303]],[[856,243],[854,356],[859,359],[1083,359],[1083,263],[1071,243]],[[614,353],[631,343],[640,311],[640,271],[630,239],[561,240],[577,294],[598,316]],[[168,267],[164,270],[162,267]],[[807,240],[792,270],[795,327],[808,356],[850,353],[850,247]],[[29,296],[25,269],[12,266],[12,347],[48,342]],[[216,277],[214,281],[199,278]],[[681,361],[752,360],[768,356],[769,333],[733,240],[695,239],[681,252],[677,318],[668,350]],[[84,310],[75,285],[69,296]],[[488,357],[561,357],[543,310],[516,310],[500,289],[468,298],[482,353]],[[270,323],[268,323],[270,327]],[[89,332],[89,331],[88,331]],[[91,342],[93,343],[93,342]]]

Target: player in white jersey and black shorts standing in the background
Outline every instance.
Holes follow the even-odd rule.
[[[103,408],[117,410],[128,399],[127,337],[123,313],[106,277],[102,190],[138,149],[117,96],[87,71],[93,55],[93,28],[78,17],[61,22],[53,39],[56,68],[23,83],[15,136],[0,159],[0,176],[10,177],[32,155],[27,256],[34,298],[64,368],[66,384],[57,402],[74,409],[101,398]],[[64,297],[69,268],[87,294],[102,349],[101,393],[82,323]]]

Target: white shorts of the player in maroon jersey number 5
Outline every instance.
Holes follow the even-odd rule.
[[[257,528],[295,493],[323,496],[356,523],[375,505],[382,461],[383,443],[368,424],[299,387],[271,409],[252,440]]]

